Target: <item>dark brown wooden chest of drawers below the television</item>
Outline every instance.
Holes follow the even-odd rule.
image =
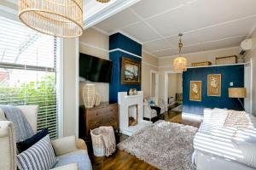
[[[90,130],[100,126],[119,129],[118,104],[102,104],[91,109],[79,108],[79,138],[89,138]]]

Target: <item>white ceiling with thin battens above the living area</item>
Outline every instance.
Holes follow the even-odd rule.
[[[183,53],[230,48],[256,26],[256,0],[142,0],[95,27],[109,35],[120,31],[157,57],[177,51],[183,32]]]

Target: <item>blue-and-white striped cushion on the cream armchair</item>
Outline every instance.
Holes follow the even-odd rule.
[[[49,135],[17,156],[17,165],[20,170],[48,170],[55,165],[55,161],[55,152]]]

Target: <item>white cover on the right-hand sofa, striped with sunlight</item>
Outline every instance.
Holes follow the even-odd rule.
[[[252,122],[245,130],[202,122],[195,135],[194,147],[195,150],[256,168],[256,128]]]

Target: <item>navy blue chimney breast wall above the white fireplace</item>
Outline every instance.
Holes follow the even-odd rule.
[[[113,34],[109,37],[109,49],[120,48],[125,51],[128,51],[131,54],[136,54],[141,56],[142,54],[142,45],[134,42],[128,37],[120,33]],[[141,58],[138,58],[134,55],[126,54],[119,50],[109,53],[109,59],[113,61],[113,76],[112,82],[109,83],[109,102],[116,103],[118,102],[118,93],[126,92],[130,88],[137,88],[137,91],[141,90],[141,85],[124,85],[121,84],[121,69],[122,69],[122,58],[133,59],[139,62],[142,62]]]

